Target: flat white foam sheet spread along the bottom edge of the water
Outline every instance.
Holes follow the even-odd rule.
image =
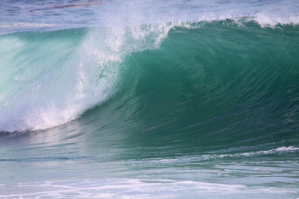
[[[191,180],[108,178],[4,184],[0,198],[275,198],[296,188],[245,186]]]

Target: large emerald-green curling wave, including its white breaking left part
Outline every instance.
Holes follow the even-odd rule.
[[[280,114],[279,109],[284,111],[284,123],[293,123],[298,97],[292,86],[297,84],[298,26],[260,26],[252,18],[242,17],[2,35],[0,129],[55,127],[132,92],[137,93],[126,100],[135,100],[135,105],[128,103],[136,109],[148,107],[152,96],[164,96],[168,103],[176,104],[169,107],[174,112],[193,109],[197,122],[187,122],[186,129],[229,115],[259,114],[263,106],[268,107],[267,117]],[[162,92],[177,96],[176,101]],[[158,109],[166,105],[159,103]],[[192,108],[192,104],[197,105]],[[223,106],[219,110],[227,110],[217,113],[210,108],[219,105]],[[238,121],[256,123],[251,117],[241,118]],[[275,123],[270,122],[273,127]],[[145,131],[164,124],[154,126]]]

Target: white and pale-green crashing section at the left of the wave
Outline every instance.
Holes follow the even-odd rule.
[[[2,48],[1,129],[45,129],[77,118],[117,88],[132,52],[158,49],[174,24],[95,27],[8,34]],[[76,38],[77,39],[74,39]],[[21,55],[21,56],[20,56]],[[18,93],[18,95],[15,95]]]

